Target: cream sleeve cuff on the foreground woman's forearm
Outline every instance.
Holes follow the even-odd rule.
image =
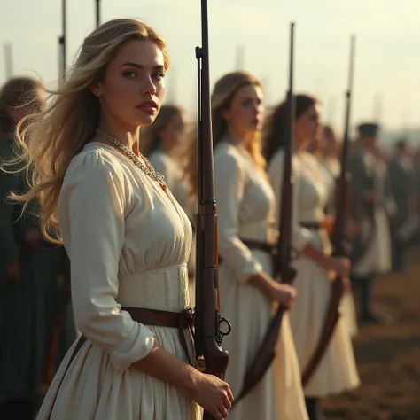
[[[113,369],[122,372],[129,366],[141,359],[144,359],[152,350],[154,345],[154,334],[142,323],[135,323],[133,330],[124,339],[120,346],[117,346],[110,353],[110,361]]]

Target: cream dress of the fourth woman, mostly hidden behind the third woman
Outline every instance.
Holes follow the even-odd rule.
[[[336,181],[340,174],[341,165],[338,159],[325,159],[319,161],[321,170],[325,175],[325,182],[329,189],[329,198],[328,198],[328,207],[335,211],[335,192],[336,192]],[[341,304],[342,313],[341,315],[346,320],[348,330],[352,337],[355,337],[359,332],[359,327],[357,326],[357,315],[356,307],[354,305],[354,295],[350,290],[345,293],[343,296],[343,301]]]

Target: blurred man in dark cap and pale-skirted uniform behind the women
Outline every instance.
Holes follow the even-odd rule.
[[[388,171],[377,153],[375,123],[358,126],[357,149],[349,159],[352,175],[350,215],[352,220],[352,280],[361,292],[361,321],[389,323],[371,307],[373,281],[391,269],[391,240],[388,216],[395,204],[390,194]]]

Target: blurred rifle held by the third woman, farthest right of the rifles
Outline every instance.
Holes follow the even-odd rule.
[[[349,127],[350,127],[350,110],[351,98],[353,90],[353,74],[354,74],[354,47],[355,38],[352,36],[350,46],[350,65],[349,65],[349,80],[348,89],[346,91],[346,123],[343,137],[343,148],[341,151],[341,172],[338,178],[338,185],[336,190],[336,219],[334,228],[331,234],[332,256],[346,257],[346,214],[348,207],[348,187],[349,175],[347,173],[348,149],[349,149]],[[307,382],[315,373],[316,368],[323,359],[323,354],[330,344],[332,334],[335,331],[339,318],[339,305],[344,294],[344,284],[341,278],[336,277],[331,284],[331,296],[325,318],[323,329],[318,339],[318,344],[315,347],[315,352],[307,362],[307,366],[303,369],[302,385],[307,385]]]

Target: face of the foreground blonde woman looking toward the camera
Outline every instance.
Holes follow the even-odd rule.
[[[92,89],[105,118],[132,129],[152,124],[165,93],[164,57],[148,40],[124,43],[106,67],[105,77]]]

